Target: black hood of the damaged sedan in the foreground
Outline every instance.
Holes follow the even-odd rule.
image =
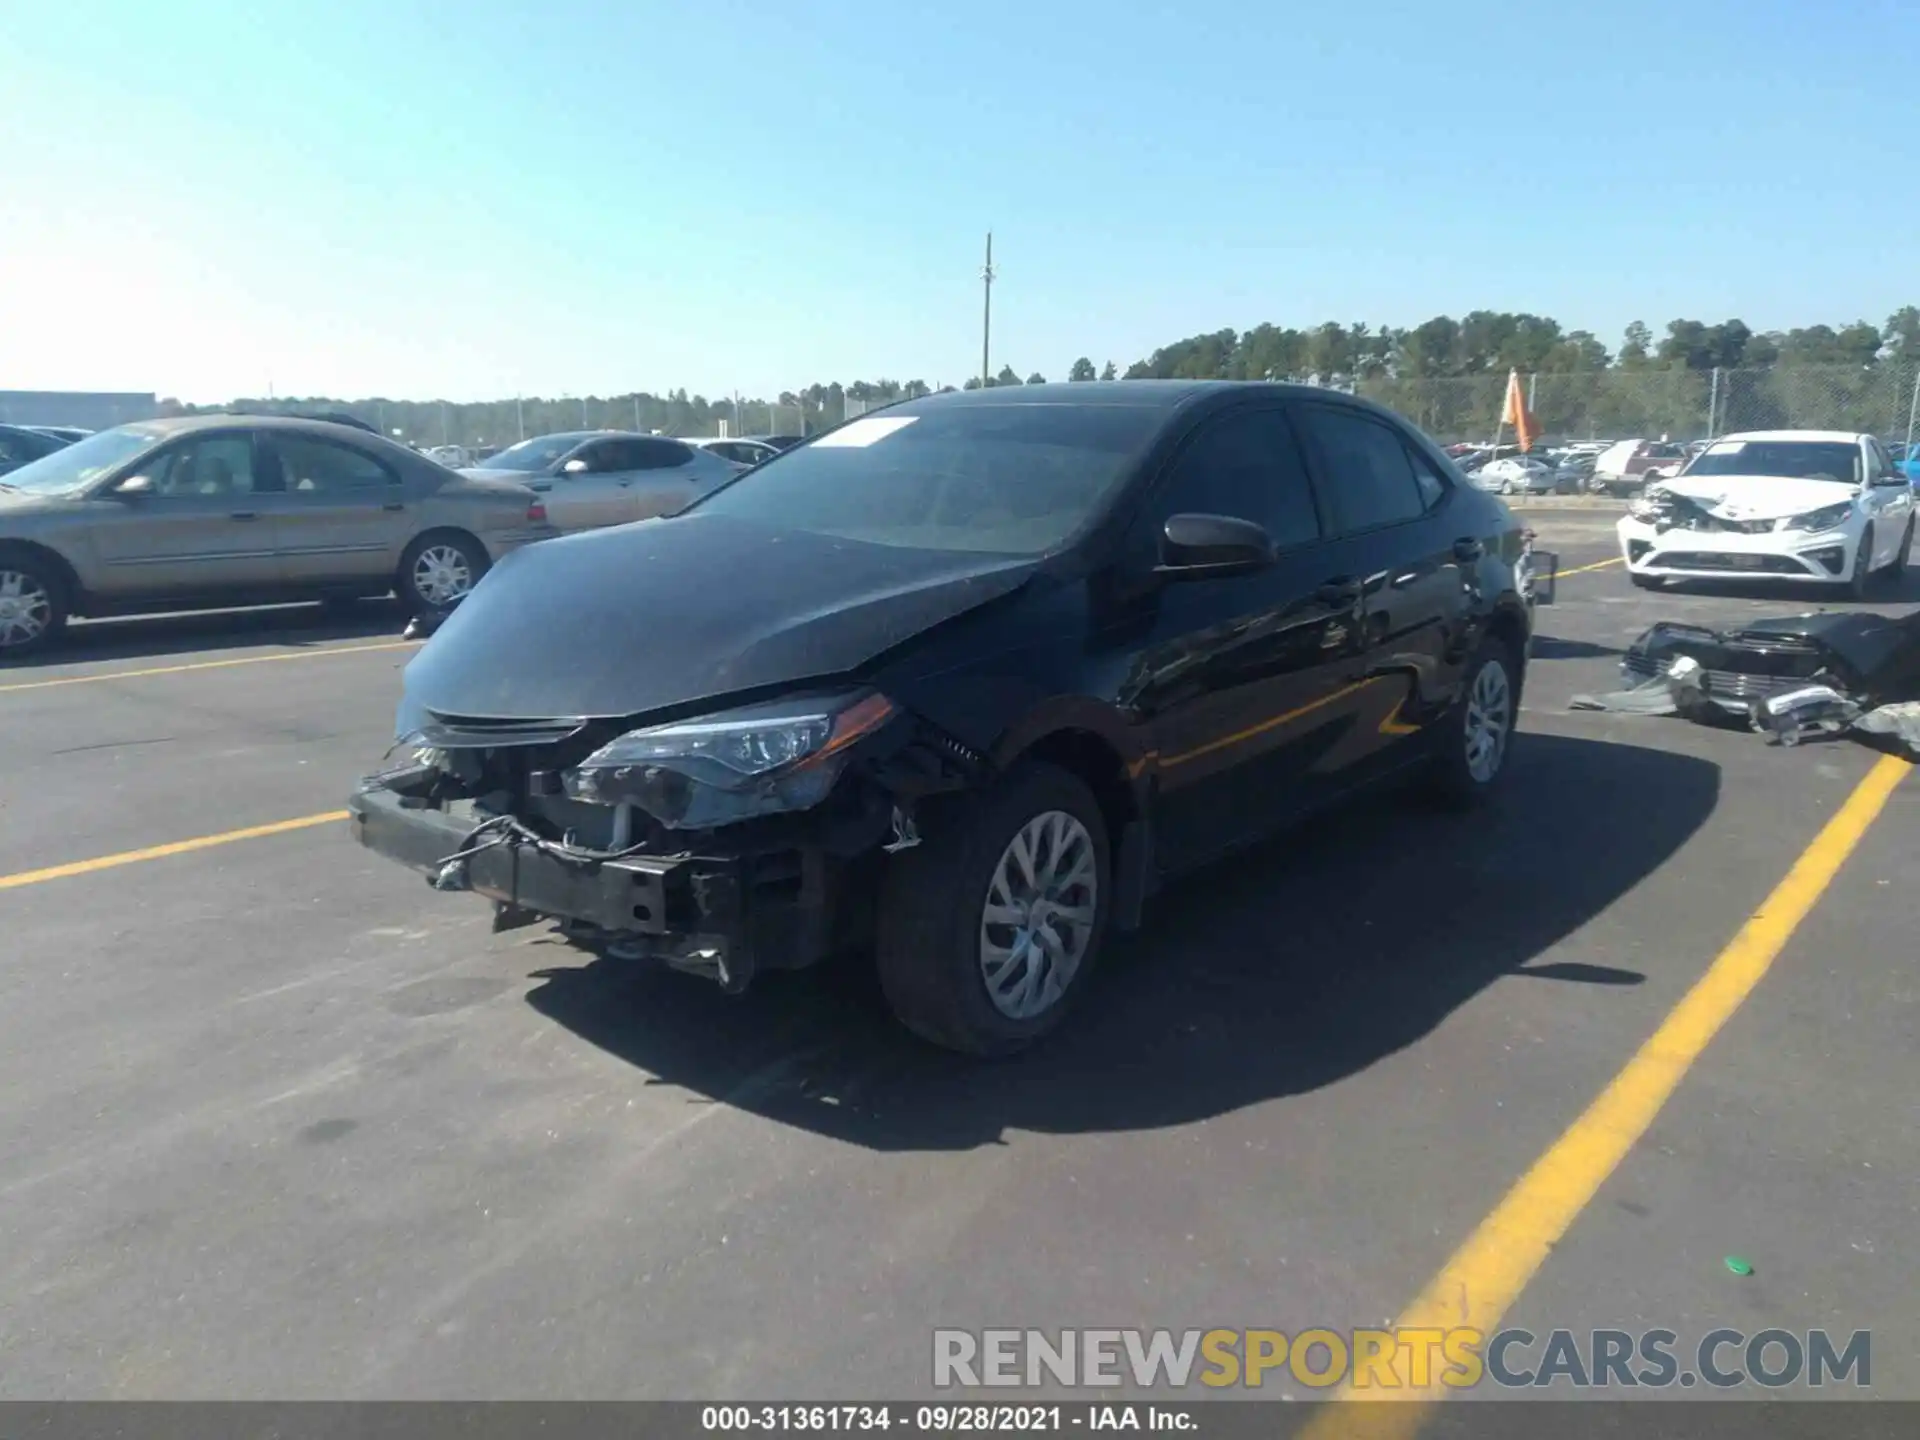
[[[409,712],[626,718],[847,674],[1037,563],[689,515],[513,551],[407,664]]]

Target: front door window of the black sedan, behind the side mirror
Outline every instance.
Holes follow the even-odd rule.
[[[1294,428],[1281,409],[1250,409],[1208,420],[1173,459],[1142,516],[1139,543],[1156,553],[1173,515],[1254,520],[1275,549],[1319,540],[1313,486]]]

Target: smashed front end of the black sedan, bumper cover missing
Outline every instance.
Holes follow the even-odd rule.
[[[920,801],[983,766],[870,689],[643,726],[426,712],[396,751],[349,801],[361,845],[490,899],[497,931],[557,922],[735,993],[860,943]]]

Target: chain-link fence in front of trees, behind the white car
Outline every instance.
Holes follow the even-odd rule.
[[[1546,440],[1701,440],[1734,430],[1853,430],[1912,442],[1920,363],[1780,365],[1764,371],[1576,371],[1523,374]],[[1505,374],[1361,380],[1442,444],[1490,440]]]

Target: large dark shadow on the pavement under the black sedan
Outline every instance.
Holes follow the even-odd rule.
[[[1473,816],[1380,795],[1173,887],[1079,1012],[998,1064],[914,1041],[852,962],[728,1000],[651,968],[563,964],[576,952],[555,945],[528,1002],[649,1083],[876,1150],[1190,1123],[1354,1075],[1505,975],[1642,979],[1532,962],[1707,822],[1718,768],[1523,735],[1507,781]],[[1555,828],[1578,845],[1544,843]]]

